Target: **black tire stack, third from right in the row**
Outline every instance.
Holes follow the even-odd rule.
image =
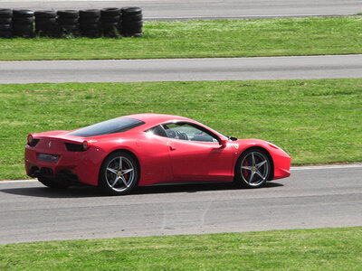
[[[100,10],[85,9],[80,11],[81,35],[89,38],[100,36]]]

